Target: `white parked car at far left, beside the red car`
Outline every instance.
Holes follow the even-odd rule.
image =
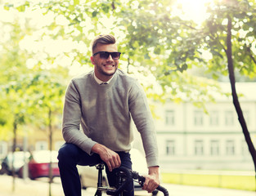
[[[16,151],[14,153],[11,152],[7,154],[7,156],[2,160],[0,174],[6,173],[7,175],[12,175],[12,166],[14,167],[15,174],[18,174],[18,171],[20,170],[20,167],[24,165],[25,160],[29,160],[29,156],[29,152],[23,151]]]

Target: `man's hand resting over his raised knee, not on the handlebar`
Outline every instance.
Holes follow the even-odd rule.
[[[119,154],[107,148],[105,145],[93,145],[92,152],[100,155],[101,160],[106,163],[110,171],[113,171],[113,169],[120,167],[121,165]]]

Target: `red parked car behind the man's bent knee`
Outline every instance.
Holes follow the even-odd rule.
[[[29,163],[29,178],[34,180],[39,177],[49,177],[50,160],[52,158],[52,177],[60,176],[58,167],[58,152],[49,150],[34,151]],[[20,168],[19,176],[23,176],[23,167]]]

